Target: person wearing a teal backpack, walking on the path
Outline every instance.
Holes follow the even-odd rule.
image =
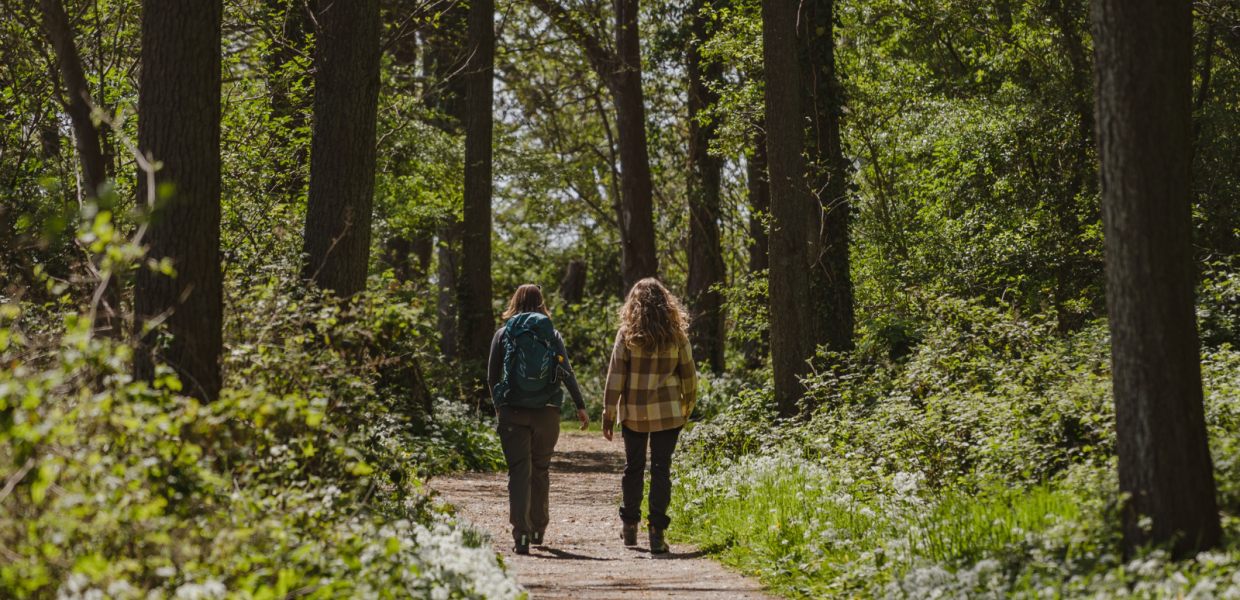
[[[508,461],[508,522],[513,552],[542,545],[551,522],[551,456],[559,440],[560,382],[577,407],[582,429],[590,425],[585,400],[568,362],[564,338],[552,326],[542,286],[517,288],[491,340],[487,386],[498,415],[500,444]]]

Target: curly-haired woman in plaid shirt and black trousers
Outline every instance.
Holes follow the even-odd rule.
[[[611,440],[616,419],[624,426],[625,545],[637,544],[642,475],[650,448],[650,552],[668,550],[663,532],[671,524],[672,452],[697,400],[697,368],[689,348],[688,316],[676,298],[653,278],[629,290],[620,309],[620,330],[611,348],[604,395],[603,435]]]

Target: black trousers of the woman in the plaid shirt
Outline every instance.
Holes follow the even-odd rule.
[[[667,516],[667,505],[672,502],[672,452],[681,428],[663,431],[641,433],[624,428],[624,479],[620,488],[624,502],[620,505],[620,521],[635,524],[641,521],[641,492],[646,471],[646,448],[650,446],[650,526],[666,529],[672,524]]]

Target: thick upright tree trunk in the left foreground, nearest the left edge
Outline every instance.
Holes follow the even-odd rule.
[[[184,390],[218,397],[223,348],[223,274],[219,267],[219,84],[222,0],[148,0],[141,16],[138,149],[164,164],[157,186],[172,186],[146,232],[148,258],[167,259],[170,276],[139,269],[134,311],[139,324],[162,320],[171,335],[135,360],[154,377],[154,361],[176,369]],[[138,177],[139,198],[146,177]],[[139,325],[140,327],[141,325]],[[151,353],[157,357],[153,357]]]

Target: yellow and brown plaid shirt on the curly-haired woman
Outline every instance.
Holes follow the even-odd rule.
[[[697,368],[686,340],[651,352],[630,348],[616,335],[603,395],[603,426],[616,418],[634,431],[663,431],[684,425],[697,402]]]

